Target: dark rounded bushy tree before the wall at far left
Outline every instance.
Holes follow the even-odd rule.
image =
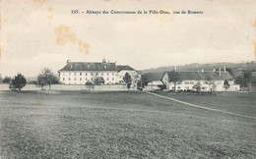
[[[26,85],[27,80],[24,78],[22,74],[18,74],[14,77],[14,79],[11,79],[9,88],[21,91],[22,88]]]

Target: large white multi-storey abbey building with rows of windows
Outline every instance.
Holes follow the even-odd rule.
[[[136,86],[137,80],[141,75],[130,66],[117,66],[116,63],[90,62],[67,62],[61,70],[58,71],[59,79],[64,84],[86,84],[88,81],[95,82],[95,79],[102,77],[104,84],[125,83],[123,78],[126,73],[131,76],[132,85]]]

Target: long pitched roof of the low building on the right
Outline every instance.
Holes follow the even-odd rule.
[[[168,76],[171,76],[171,72],[166,72]],[[180,76],[180,79],[209,79],[209,80],[218,80],[218,79],[234,79],[228,72],[177,72]]]

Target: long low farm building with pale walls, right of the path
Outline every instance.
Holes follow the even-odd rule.
[[[166,90],[193,90],[193,86],[197,83],[200,84],[203,91],[238,91],[240,89],[239,85],[234,83],[235,79],[225,69],[224,71],[220,69],[220,71],[178,71],[176,73],[180,79],[176,84],[169,81],[173,75],[171,72],[163,74],[161,81],[166,85]],[[229,84],[227,89],[224,87],[225,80]]]

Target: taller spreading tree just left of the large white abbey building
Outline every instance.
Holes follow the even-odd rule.
[[[41,74],[38,75],[37,82],[41,85],[41,87],[48,84],[49,89],[51,89],[51,84],[58,83],[58,78],[54,76],[50,69],[44,68],[41,71]]]

